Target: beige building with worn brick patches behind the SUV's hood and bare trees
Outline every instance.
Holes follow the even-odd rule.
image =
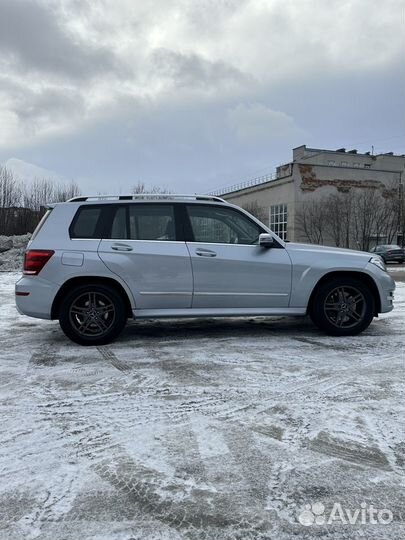
[[[257,178],[215,194],[257,215],[283,239],[308,241],[302,227],[304,208],[316,208],[314,202],[319,205],[333,194],[348,194],[350,199],[362,189],[379,193],[381,200],[400,197],[404,170],[405,155],[359,154],[344,148],[322,150],[303,145],[293,149],[293,160],[277,167],[274,176]],[[322,243],[339,244],[329,233],[323,236]],[[358,247],[354,240],[350,244]]]

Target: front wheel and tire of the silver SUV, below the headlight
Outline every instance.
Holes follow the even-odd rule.
[[[357,301],[356,301],[357,299]],[[310,316],[330,336],[355,336],[370,325],[375,313],[374,296],[354,278],[333,278],[315,292]]]

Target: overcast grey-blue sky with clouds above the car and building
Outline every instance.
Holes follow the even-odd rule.
[[[0,163],[85,192],[206,192],[301,144],[405,153],[403,14],[403,0],[0,0]]]

